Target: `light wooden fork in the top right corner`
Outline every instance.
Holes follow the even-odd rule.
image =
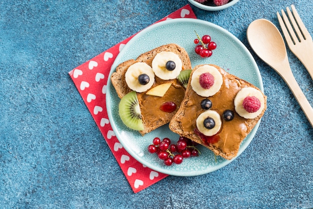
[[[281,10],[282,19],[277,12],[278,22],[290,51],[301,61],[313,79],[312,37],[302,23],[293,5],[291,5],[291,10],[292,13],[290,12],[289,8],[286,8],[288,17],[283,12],[283,10]]]

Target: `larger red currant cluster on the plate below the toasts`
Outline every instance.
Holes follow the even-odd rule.
[[[167,137],[162,140],[155,137],[152,143],[148,146],[148,151],[150,153],[156,153],[159,159],[164,160],[165,165],[171,165],[173,163],[180,164],[183,158],[198,156],[200,153],[195,148],[197,143],[182,136],[179,137],[176,144],[171,144],[170,139]]]

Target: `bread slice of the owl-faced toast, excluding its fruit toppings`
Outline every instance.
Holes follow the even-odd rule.
[[[131,66],[132,64],[136,62],[144,62],[147,65],[151,66],[152,60],[155,57],[155,55],[157,53],[164,52],[164,51],[173,52],[178,55],[178,57],[180,58],[182,62],[182,70],[191,69],[191,62],[190,62],[189,56],[187,52],[180,46],[176,44],[167,44],[167,45],[162,45],[160,47],[152,49],[148,52],[145,52],[139,55],[136,58],[136,60],[127,60],[119,64],[116,67],[116,72],[112,74],[110,79],[119,98],[122,98],[125,94],[132,91],[125,82],[125,73],[127,69],[129,68],[129,66]],[[178,92],[177,94],[181,95],[180,98],[179,97],[174,98],[175,103],[177,105],[177,109],[178,109],[180,102],[182,101],[183,96],[184,96],[184,88],[182,87],[182,85],[179,84],[177,79],[164,81],[155,76],[155,82],[151,88],[159,84],[167,83],[167,82],[172,83],[171,87],[167,91],[168,93],[175,94],[175,92]],[[137,93],[137,98],[138,98],[138,102],[139,102],[139,106],[141,110],[141,117],[142,117],[142,122],[143,122],[143,127],[144,127],[144,130],[139,131],[141,135],[144,135],[145,133],[148,133],[168,123],[171,117],[175,114],[176,111],[171,112],[171,113],[165,113],[159,110],[159,105],[162,102],[164,102],[164,100],[166,99],[172,100],[172,98],[166,98],[167,92],[165,93],[163,97],[160,97],[160,98],[146,95],[145,92]],[[149,102],[149,100],[146,99],[147,97],[154,97],[153,102]],[[155,113],[155,117],[150,117],[151,113]],[[153,120],[151,120],[151,118],[153,118]]]

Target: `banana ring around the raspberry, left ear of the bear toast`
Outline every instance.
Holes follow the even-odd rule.
[[[207,89],[201,87],[199,78],[203,73],[209,73],[214,78],[214,83]],[[191,76],[191,87],[195,93],[202,97],[213,96],[216,92],[219,91],[221,85],[223,83],[223,77],[219,73],[219,71],[210,65],[203,65],[197,68]]]

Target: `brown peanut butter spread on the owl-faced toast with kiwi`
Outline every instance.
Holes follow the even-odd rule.
[[[169,122],[171,117],[176,112],[163,112],[159,109],[160,105],[168,101],[174,102],[176,104],[177,110],[180,106],[181,101],[183,100],[185,89],[179,84],[176,79],[164,81],[162,79],[159,79],[158,77],[155,77],[155,83],[152,88],[154,86],[168,82],[171,82],[172,84],[162,97],[146,95],[144,92],[137,93],[142,120],[150,125],[154,125],[159,121]]]

